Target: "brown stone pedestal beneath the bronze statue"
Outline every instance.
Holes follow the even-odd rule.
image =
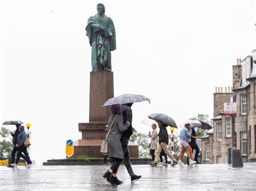
[[[82,139],[73,143],[74,155],[104,157],[100,153],[100,145],[106,137],[105,129],[111,109],[102,105],[111,97],[114,97],[113,72],[91,72],[89,123],[78,125]],[[138,145],[129,142],[129,148],[131,157],[138,158]]]

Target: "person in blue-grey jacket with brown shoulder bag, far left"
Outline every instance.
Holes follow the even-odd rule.
[[[19,161],[19,158],[21,157],[22,153],[24,153],[25,155],[25,161],[27,163],[26,167],[31,167],[31,161],[30,161],[30,158],[29,158],[29,154],[28,154],[28,151],[24,145],[24,142],[26,140],[26,132],[24,131],[24,126],[19,126],[19,135],[17,137],[17,144],[16,144],[16,147],[18,147],[18,154],[17,154],[17,159],[16,159],[16,162],[15,162],[15,166],[18,166],[18,161]]]

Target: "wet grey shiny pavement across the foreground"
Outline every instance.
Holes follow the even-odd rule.
[[[111,186],[102,177],[108,166],[0,167],[0,190],[255,190],[256,163],[244,166],[234,169],[226,164],[133,165],[134,172],[143,178],[131,183],[122,165],[118,178],[124,183],[119,186]]]

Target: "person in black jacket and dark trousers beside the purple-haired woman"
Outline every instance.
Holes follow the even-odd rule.
[[[130,161],[130,150],[128,147],[129,139],[132,136],[133,133],[133,128],[132,128],[132,104],[133,103],[127,103],[127,104],[122,104],[122,114],[124,118],[124,122],[129,121],[130,126],[129,128],[122,132],[122,137],[120,139],[120,142],[122,144],[123,152],[124,152],[124,165],[128,171],[128,173],[131,176],[131,182],[136,182],[142,178],[140,175],[134,174],[131,166],[131,161]]]

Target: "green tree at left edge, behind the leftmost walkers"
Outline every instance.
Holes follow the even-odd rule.
[[[6,128],[1,128],[0,137],[0,157],[8,158],[11,155],[12,151],[12,142],[11,142],[11,131]]]

